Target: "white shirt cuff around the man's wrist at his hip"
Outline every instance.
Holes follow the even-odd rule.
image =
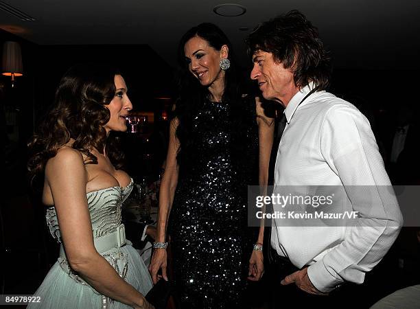
[[[323,260],[319,260],[307,268],[307,276],[312,284],[323,293],[331,292],[331,290],[338,288],[344,282],[341,279],[337,279],[331,272],[325,267]]]

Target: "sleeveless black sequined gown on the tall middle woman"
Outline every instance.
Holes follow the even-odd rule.
[[[191,138],[169,228],[181,308],[244,308],[257,237],[247,226],[247,185],[257,184],[258,170],[255,100],[243,98],[240,111],[205,102]]]

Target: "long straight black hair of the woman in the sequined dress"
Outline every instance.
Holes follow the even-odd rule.
[[[231,42],[226,34],[213,23],[201,23],[196,27],[188,30],[180,39],[178,45],[178,65],[179,65],[179,96],[176,100],[176,109],[173,117],[178,119],[178,128],[176,137],[180,141],[180,150],[178,151],[178,163],[187,159],[188,150],[193,146],[191,140],[192,119],[198,113],[205,100],[209,100],[210,93],[207,87],[203,87],[200,82],[192,76],[188,70],[188,63],[185,61],[184,46],[189,39],[198,36],[216,50],[220,50],[223,45],[229,48],[228,59],[231,67],[225,71],[224,75],[224,93],[222,102],[229,104],[231,110],[240,110],[240,98],[242,95],[242,82],[240,82],[240,74],[238,72],[237,62]],[[240,113],[231,113],[232,121],[240,118]]]

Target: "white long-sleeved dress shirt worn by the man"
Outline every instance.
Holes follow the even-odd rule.
[[[329,292],[345,281],[364,281],[364,273],[380,262],[397,238],[402,216],[394,194],[376,187],[390,181],[366,117],[326,91],[312,93],[299,105],[311,87],[296,93],[285,108],[287,124],[277,152],[275,185],[378,188],[373,198],[379,207],[373,209],[354,203],[359,196],[347,193],[350,207],[360,211],[353,227],[284,227],[281,219],[273,219],[272,247],[299,268],[310,265],[312,284]]]

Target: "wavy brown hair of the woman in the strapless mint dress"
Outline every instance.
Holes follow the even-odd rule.
[[[27,168],[30,179],[43,174],[48,159],[74,139],[72,148],[86,155],[85,164],[96,164],[91,153],[96,148],[106,154],[116,168],[124,159],[115,151],[116,137],[106,138],[104,126],[110,113],[105,105],[115,96],[115,76],[119,71],[110,65],[75,65],[61,78],[54,104],[41,119],[40,126],[28,144],[31,157]],[[106,147],[105,147],[106,146]]]

